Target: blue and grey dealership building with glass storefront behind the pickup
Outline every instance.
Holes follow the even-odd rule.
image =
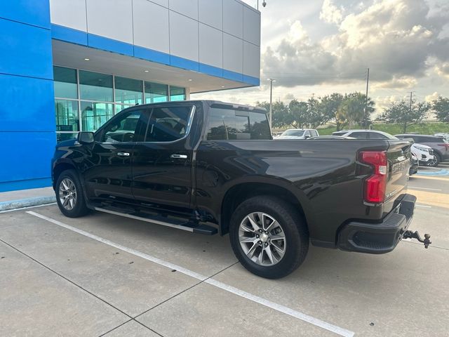
[[[0,192],[51,185],[60,140],[126,107],[260,84],[239,0],[20,0],[0,8]]]

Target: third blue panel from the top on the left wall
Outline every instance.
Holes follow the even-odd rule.
[[[0,74],[0,132],[55,131],[53,81]]]

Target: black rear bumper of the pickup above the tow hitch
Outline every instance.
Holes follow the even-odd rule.
[[[392,251],[410,225],[415,202],[414,195],[406,194],[395,211],[391,211],[381,223],[347,223],[338,234],[338,248],[372,254]]]

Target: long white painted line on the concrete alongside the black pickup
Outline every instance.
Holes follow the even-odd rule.
[[[41,218],[43,220],[46,220],[50,223],[54,223],[55,225],[58,225],[60,227],[64,227],[67,230],[72,230],[73,232],[76,232],[78,234],[81,234],[85,237],[89,237],[91,239],[94,239],[98,242],[102,242],[103,244],[107,244],[109,246],[112,246],[116,249],[120,249],[121,251],[126,251],[127,253],[133,254],[135,256],[139,256],[140,258],[144,258],[145,260],[152,261],[154,263],[157,263],[159,265],[163,265],[164,267],[168,267],[172,270],[177,270],[178,272],[182,272],[182,274],[188,275],[190,277],[193,277],[194,279],[199,279],[200,281],[206,282],[207,284],[210,284],[212,286],[216,286],[217,288],[223,289],[225,291],[229,291],[229,293],[234,293],[234,295],[241,296],[243,298],[246,298],[248,300],[252,300],[255,303],[259,303],[260,305],[264,305],[267,308],[271,308],[273,310],[282,312],[283,314],[289,315],[291,317],[295,317],[297,319],[301,319],[304,322],[308,322],[310,324],[313,324],[314,326],[319,326],[322,329],[326,329],[328,331],[331,331],[333,333],[336,333],[337,335],[344,336],[344,337],[352,337],[354,336],[353,331],[349,331],[347,329],[343,329],[340,326],[336,326],[333,324],[330,324],[328,322],[324,322],[321,319],[317,319],[315,317],[311,317],[309,315],[306,315],[302,312],[284,307],[283,305],[280,305],[278,303],[274,303],[270,300],[266,300],[265,298],[261,298],[259,296],[255,296],[252,293],[247,293],[246,291],[234,288],[234,286],[229,286],[225,283],[219,282],[215,279],[208,278],[206,276],[200,275],[196,272],[193,272],[192,270],[188,270],[184,267],[180,267],[179,265],[175,265],[173,263],[161,260],[160,258],[156,258],[154,256],[150,256],[148,254],[142,253],[140,251],[136,251],[135,249],[128,248],[126,246],[122,246],[121,244],[116,244],[115,242],[109,241],[108,239],[103,239],[102,237],[98,237],[97,235],[91,234],[89,232],[86,232],[84,230],[80,230],[79,228],[72,227],[71,225],[67,225],[65,223],[61,223],[58,220],[48,218],[46,216],[43,216],[39,213],[35,213],[33,211],[27,211],[27,213],[31,216],[36,216],[37,218]]]

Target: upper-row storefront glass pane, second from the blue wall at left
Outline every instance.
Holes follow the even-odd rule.
[[[81,100],[112,102],[112,75],[79,71]]]

